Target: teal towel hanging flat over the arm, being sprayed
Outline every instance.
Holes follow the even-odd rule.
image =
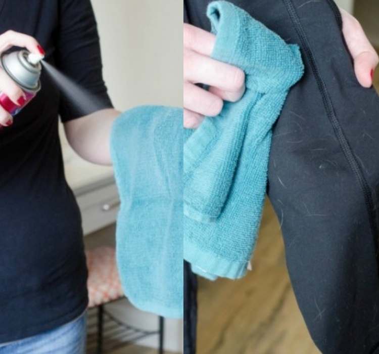
[[[111,158],[121,204],[116,259],[137,308],[183,317],[183,110],[139,106],[117,117]]]

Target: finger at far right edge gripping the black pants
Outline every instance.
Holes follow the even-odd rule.
[[[340,11],[343,20],[342,31],[354,60],[355,75],[362,86],[370,87],[373,71],[379,62],[378,55],[357,19],[343,9]]]

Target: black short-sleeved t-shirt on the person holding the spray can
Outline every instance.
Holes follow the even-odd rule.
[[[46,61],[112,107],[89,0],[0,0],[0,33],[35,37]],[[42,69],[41,91],[0,130],[0,343],[63,325],[87,306],[81,216],[58,115],[80,116]]]

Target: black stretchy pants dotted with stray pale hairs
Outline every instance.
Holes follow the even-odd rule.
[[[232,2],[306,68],[273,127],[267,194],[310,336],[324,354],[379,353],[379,96],[356,79],[333,1]],[[184,1],[184,21],[209,30],[207,4]]]

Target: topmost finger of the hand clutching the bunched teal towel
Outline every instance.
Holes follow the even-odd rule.
[[[184,23],[183,25],[183,45],[184,48],[191,49],[200,54],[210,56],[212,54],[216,36],[201,28]]]

